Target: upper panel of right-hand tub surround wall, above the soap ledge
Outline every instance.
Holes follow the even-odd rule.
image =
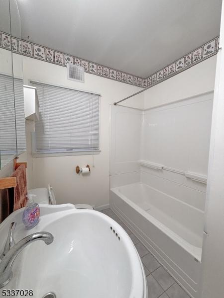
[[[144,112],[143,160],[207,175],[213,92]]]

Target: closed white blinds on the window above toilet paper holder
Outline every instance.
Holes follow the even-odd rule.
[[[99,95],[33,82],[40,104],[37,153],[99,150]]]

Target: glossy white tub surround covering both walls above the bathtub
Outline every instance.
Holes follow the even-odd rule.
[[[111,187],[141,181],[204,211],[206,184],[184,173],[207,175],[212,104],[208,92],[143,112],[113,106]],[[140,159],[174,172],[140,166]]]

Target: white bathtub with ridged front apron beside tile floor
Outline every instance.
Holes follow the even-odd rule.
[[[110,206],[191,297],[197,297],[204,212],[147,184],[111,188]]]

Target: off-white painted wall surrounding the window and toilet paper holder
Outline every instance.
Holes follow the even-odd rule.
[[[67,79],[67,69],[36,59],[23,57],[24,83],[29,79],[63,85],[72,88],[101,93],[100,147],[99,155],[56,156],[32,158],[30,131],[32,123],[27,123],[28,188],[44,187],[48,183],[54,188],[57,203],[88,203],[101,206],[109,203],[109,163],[110,163],[110,105],[141,88],[113,81],[93,74],[85,74],[85,83]],[[143,95],[125,104],[143,108]],[[93,161],[94,160],[94,161]],[[76,165],[90,164],[89,176],[78,175]],[[93,167],[93,164],[95,165]]]

